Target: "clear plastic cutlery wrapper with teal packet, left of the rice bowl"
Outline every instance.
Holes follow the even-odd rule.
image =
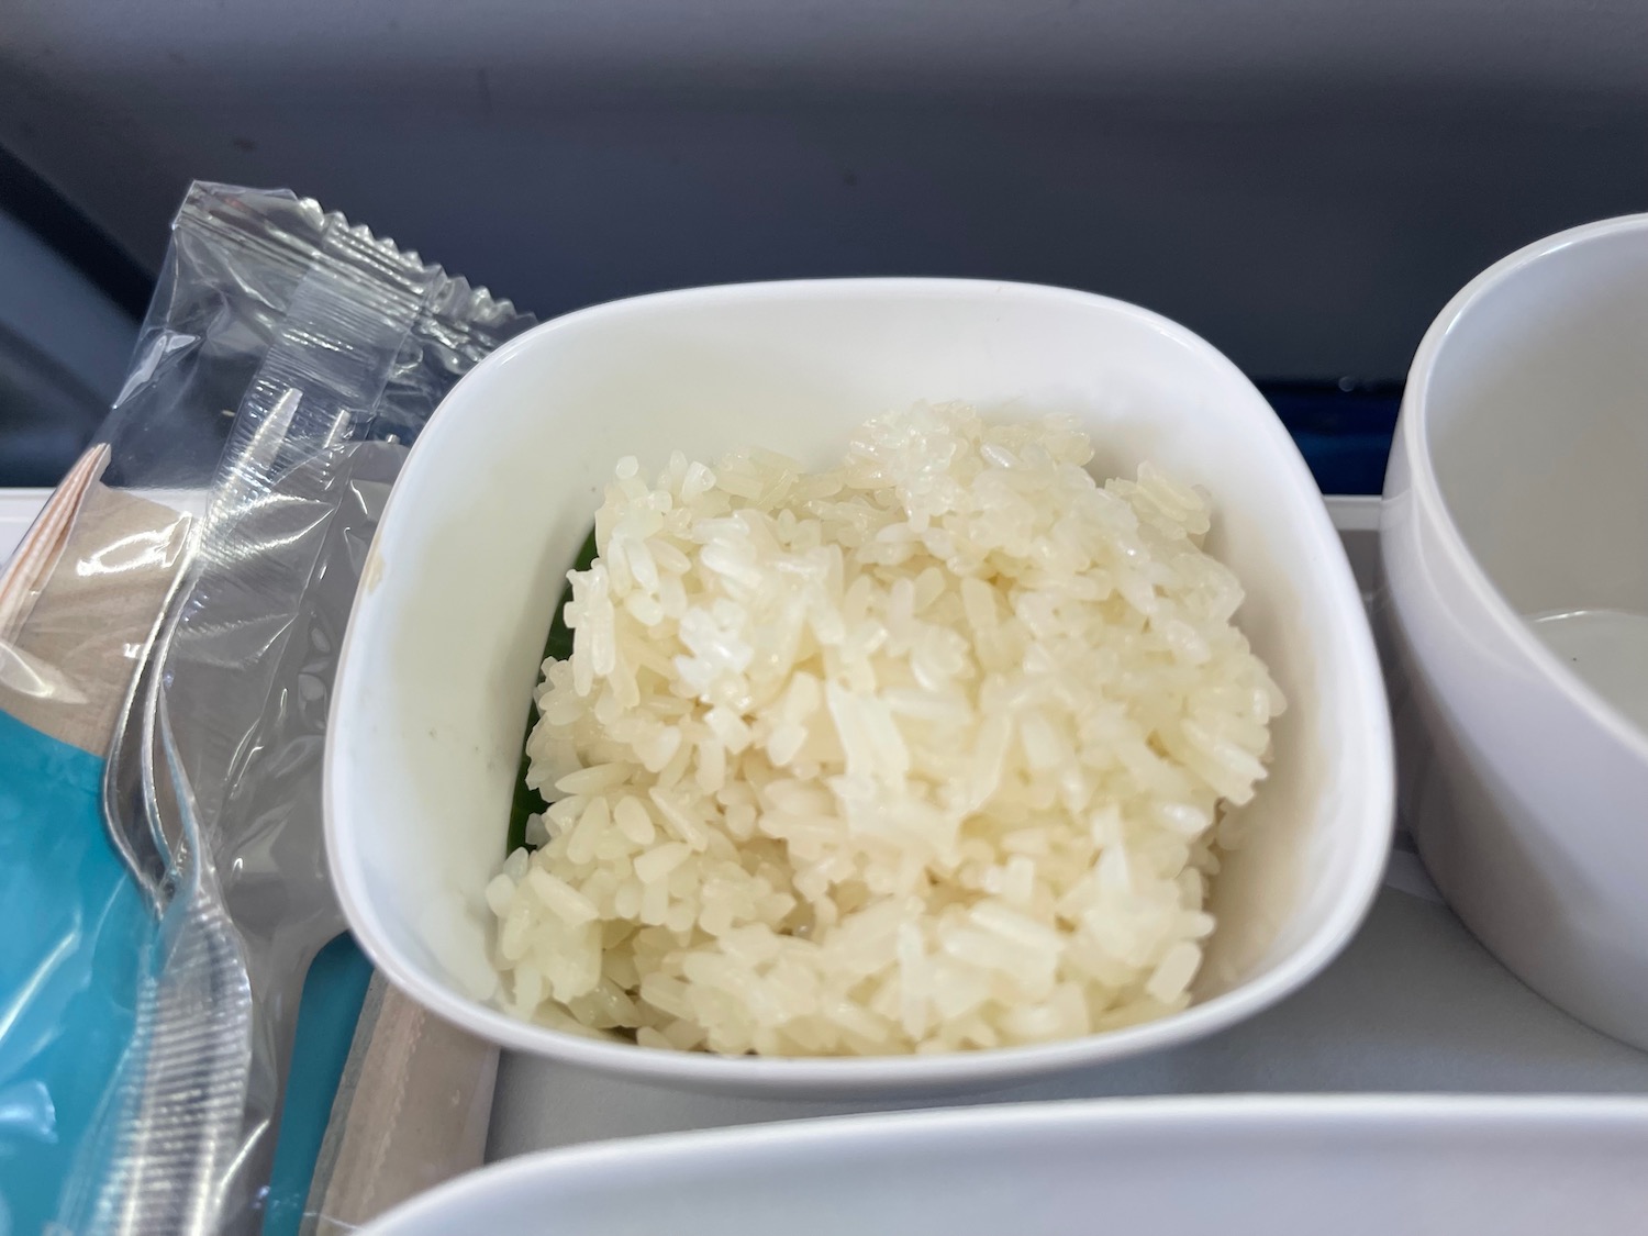
[[[0,1233],[272,1228],[303,979],[343,929],[336,649],[405,448],[526,325],[313,201],[191,188],[101,442],[0,580],[0,892],[40,910],[0,948]],[[442,1050],[473,1135],[494,1061]]]

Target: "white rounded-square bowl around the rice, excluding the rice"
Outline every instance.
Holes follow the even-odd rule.
[[[770,445],[826,466],[862,420],[964,399],[1071,412],[1101,475],[1150,458],[1206,485],[1211,549],[1289,697],[1252,840],[1216,882],[1216,943],[1175,1017],[957,1056],[727,1060],[592,1042],[489,1007],[481,890],[550,610],[623,455]],[[1343,549],[1292,440],[1213,348],[1078,292],[949,280],[664,293],[550,321],[452,392],[379,526],[326,753],[326,836],[356,936],[405,990],[503,1045],[727,1089],[986,1086],[1183,1042],[1256,1012],[1350,938],[1389,837],[1389,722]]]

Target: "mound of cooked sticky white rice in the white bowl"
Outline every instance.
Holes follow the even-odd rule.
[[[1065,419],[621,460],[486,890],[503,1004],[722,1053],[1035,1043],[1183,1009],[1282,695],[1208,501]]]

